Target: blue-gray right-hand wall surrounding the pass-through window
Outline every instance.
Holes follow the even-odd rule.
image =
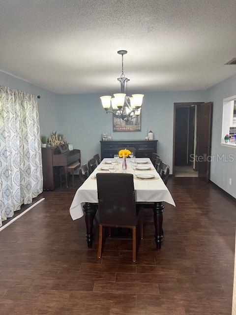
[[[211,162],[210,180],[236,198],[236,148],[220,145],[223,99],[236,95],[236,76],[226,79],[206,91],[207,101],[213,101],[211,155],[234,155],[234,162],[215,159]],[[232,185],[229,185],[229,178]]]

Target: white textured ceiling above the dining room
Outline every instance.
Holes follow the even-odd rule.
[[[56,93],[207,89],[236,74],[236,0],[0,0],[0,69]]]

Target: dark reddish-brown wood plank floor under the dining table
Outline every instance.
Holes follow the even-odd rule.
[[[78,184],[78,182],[77,182]],[[107,238],[96,258],[84,218],[72,221],[75,189],[45,201],[0,232],[1,315],[231,315],[236,203],[198,178],[171,178],[161,250],[152,211],[131,260],[131,240]]]

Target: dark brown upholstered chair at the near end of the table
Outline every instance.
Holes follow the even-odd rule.
[[[133,261],[136,261],[136,230],[140,223],[143,238],[143,220],[140,205],[135,203],[132,174],[97,173],[99,241],[98,258],[102,255],[103,226],[130,228],[133,232]]]

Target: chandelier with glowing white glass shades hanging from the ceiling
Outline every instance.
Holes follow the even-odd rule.
[[[114,97],[110,95],[100,96],[100,99],[106,113],[112,113],[114,117],[129,122],[140,115],[144,95],[127,95],[127,83],[130,80],[124,76],[123,68],[123,55],[127,54],[127,51],[119,50],[117,53],[122,56],[122,72],[118,78],[120,83],[120,93],[114,94]]]

